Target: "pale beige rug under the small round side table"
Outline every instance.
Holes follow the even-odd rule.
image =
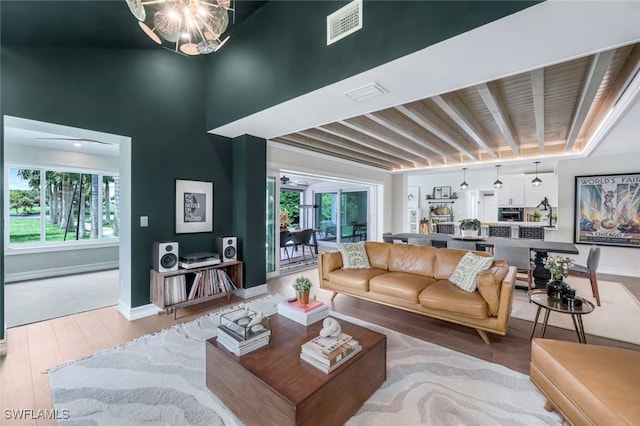
[[[576,289],[576,294],[596,305],[596,299],[591,292],[591,284],[587,279],[569,277],[567,283]],[[601,306],[590,314],[583,315],[584,331],[586,334],[606,337],[607,339],[640,345],[640,302],[621,283],[598,281]],[[516,291],[513,296],[511,316],[514,318],[533,321],[536,317],[537,305],[529,303],[526,292]],[[539,323],[542,323],[544,311],[540,313]],[[575,330],[571,315],[551,312],[549,325]],[[538,326],[540,330],[542,326]]]

